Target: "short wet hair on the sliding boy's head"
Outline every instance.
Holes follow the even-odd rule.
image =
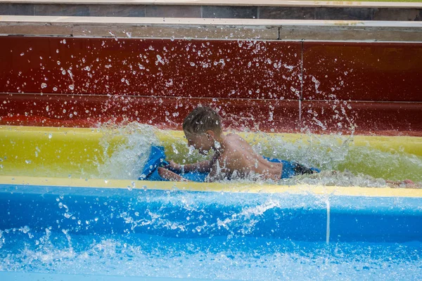
[[[208,130],[222,132],[222,119],[211,107],[196,107],[183,122],[186,133],[205,133]]]

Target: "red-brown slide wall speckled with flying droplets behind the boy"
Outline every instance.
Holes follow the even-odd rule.
[[[0,37],[0,124],[422,135],[422,44]]]

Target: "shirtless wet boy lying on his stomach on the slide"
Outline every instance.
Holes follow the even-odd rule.
[[[200,171],[209,173],[206,181],[221,181],[248,178],[252,181],[279,181],[283,173],[283,163],[269,162],[257,155],[252,147],[240,136],[222,132],[221,118],[210,107],[196,107],[185,119],[183,130],[188,145],[207,155],[214,150],[212,159],[195,164],[179,165],[170,161],[165,168],[158,168],[158,174],[170,181],[186,181],[178,174],[170,171]],[[166,169],[167,168],[167,169]],[[294,164],[294,174],[313,174],[300,164]]]

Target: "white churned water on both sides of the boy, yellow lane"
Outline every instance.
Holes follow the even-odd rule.
[[[207,159],[190,150],[184,139],[175,139],[170,144],[160,143],[153,126],[131,123],[112,129],[103,126],[102,130],[105,133],[101,141],[104,155],[98,163],[99,174],[96,177],[99,178],[137,179],[151,145],[165,145],[167,157],[180,164]],[[111,148],[111,140],[116,136],[123,137],[124,142],[117,148]],[[266,135],[260,133],[260,136],[265,138]],[[283,136],[267,136],[265,142],[256,143],[252,148],[260,155],[295,161],[323,171],[320,174],[296,176],[280,181],[280,184],[386,187],[388,184],[385,180],[410,179],[416,182],[414,187],[422,185],[422,157],[402,151],[357,146],[353,143],[353,136],[308,134],[294,142]]]

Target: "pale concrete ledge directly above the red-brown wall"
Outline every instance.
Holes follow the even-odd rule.
[[[0,15],[1,35],[421,42],[422,22]]]

